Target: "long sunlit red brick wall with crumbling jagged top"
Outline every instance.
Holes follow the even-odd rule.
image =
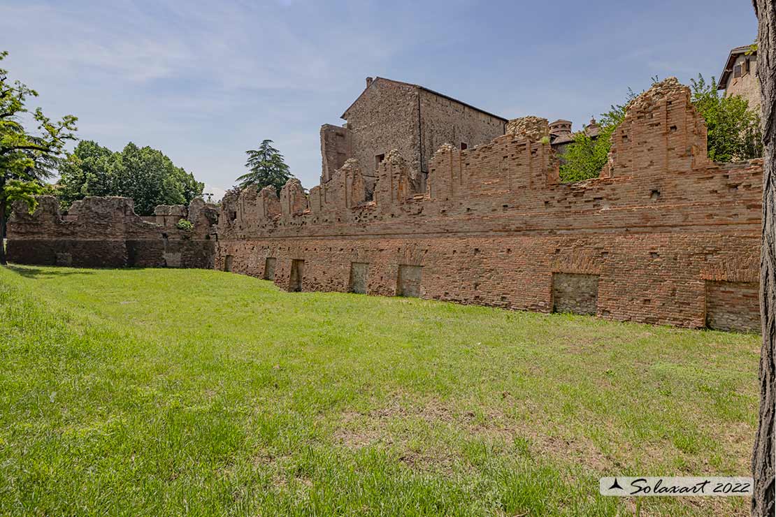
[[[348,291],[352,264],[368,264],[355,277],[366,269],[370,295],[412,295],[419,277],[423,298],[757,330],[762,161],[710,163],[689,95],[668,79],[639,96],[601,178],[576,184],[559,184],[546,121],[525,119],[486,145],[442,146],[422,192],[388,153],[372,202],[358,162],[312,189],[308,209],[227,198],[216,267],[228,255],[263,277],[271,257],[282,288],[295,264],[294,288],[301,274],[303,291]]]

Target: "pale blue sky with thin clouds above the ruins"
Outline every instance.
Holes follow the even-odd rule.
[[[114,150],[161,149],[217,197],[265,138],[317,184],[320,125],[367,76],[578,129],[654,75],[719,76],[757,34],[749,0],[2,0],[0,19],[4,66],[47,115]]]

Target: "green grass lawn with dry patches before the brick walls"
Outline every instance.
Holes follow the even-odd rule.
[[[759,336],[55,267],[0,268],[0,325],[2,515],[633,515],[598,477],[750,475]]]

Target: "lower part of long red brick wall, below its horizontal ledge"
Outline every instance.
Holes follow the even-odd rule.
[[[421,298],[537,312],[552,312],[554,306],[559,312],[661,325],[704,327],[707,296],[728,298],[715,306],[731,323],[712,322],[712,328],[757,331],[757,298],[741,304],[740,294],[718,293],[705,277],[734,257],[747,257],[746,265],[724,276],[744,277],[756,286],[759,243],[757,235],[715,239],[706,233],[281,238],[221,241],[220,252],[234,257],[232,271],[256,277],[264,276],[265,258],[274,258],[275,283],[285,289],[292,261],[303,260],[302,291],[352,291],[352,265],[368,264],[366,294],[414,295],[400,286],[407,266],[417,266]]]

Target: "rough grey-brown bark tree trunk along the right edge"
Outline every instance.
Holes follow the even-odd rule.
[[[760,424],[754,439],[752,515],[774,514],[774,404],[776,404],[776,3],[753,0],[757,14],[757,76],[760,79],[764,146],[763,247],[760,252]]]

